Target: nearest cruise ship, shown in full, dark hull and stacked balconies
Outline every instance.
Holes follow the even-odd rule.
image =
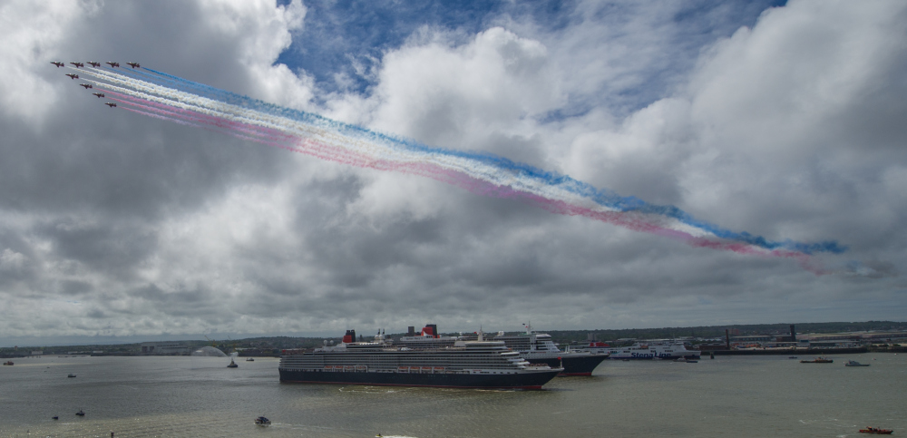
[[[541,389],[562,368],[532,365],[501,341],[458,340],[452,346],[395,346],[378,334],[355,342],[347,330],[340,344],[280,358],[280,382],[370,384],[451,388]]]

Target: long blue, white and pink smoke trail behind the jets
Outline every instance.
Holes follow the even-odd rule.
[[[90,83],[109,92],[112,100],[132,112],[225,132],[322,160],[420,175],[485,196],[520,199],[553,213],[583,216],[680,239],[698,248],[795,258],[817,273],[821,269],[813,267],[811,256],[837,254],[846,249],[834,241],[770,241],[746,232],[722,229],[674,206],[619,196],[569,176],[490,153],[432,148],[150,69],[78,71],[92,76]]]

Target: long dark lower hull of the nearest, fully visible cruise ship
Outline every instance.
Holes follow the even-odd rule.
[[[369,384],[442,388],[541,389],[558,370],[522,374],[341,373],[280,368],[280,382],[304,384]]]

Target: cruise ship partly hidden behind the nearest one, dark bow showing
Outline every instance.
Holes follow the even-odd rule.
[[[467,336],[439,336],[438,327],[429,324],[422,329],[419,336],[404,336],[395,342],[396,346],[409,348],[438,348],[451,346],[457,340]],[[520,354],[530,364],[549,365],[552,368],[562,367],[562,376],[567,375],[592,375],[602,361],[608,358],[607,353],[565,352],[551,341],[551,335],[535,333],[531,326],[527,326],[526,333],[521,335],[505,336],[498,332],[495,341],[503,341],[504,345]]]

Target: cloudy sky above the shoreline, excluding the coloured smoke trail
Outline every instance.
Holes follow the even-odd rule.
[[[321,160],[50,63],[95,60],[844,250]],[[0,69],[0,346],[907,315],[903,2],[4,2]]]

